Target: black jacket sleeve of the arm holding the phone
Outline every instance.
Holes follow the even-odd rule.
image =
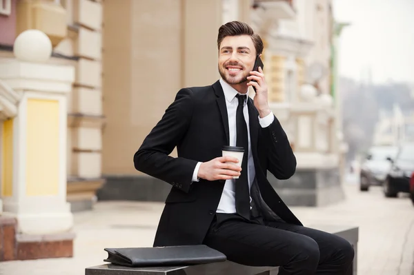
[[[262,128],[262,139],[268,149],[267,170],[276,179],[289,179],[293,176],[296,171],[296,157],[290,147],[288,136],[276,117],[268,127]]]

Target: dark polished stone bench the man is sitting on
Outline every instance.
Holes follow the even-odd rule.
[[[350,242],[355,249],[352,275],[357,275],[358,227],[341,225],[310,225],[309,227],[341,236]],[[230,261],[175,267],[124,267],[109,263],[85,269],[85,275],[276,275],[277,272],[278,267],[248,267]]]

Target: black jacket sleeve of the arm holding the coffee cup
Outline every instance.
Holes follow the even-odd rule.
[[[190,190],[197,161],[168,156],[179,144],[193,115],[193,92],[181,89],[164,116],[134,155],[135,169],[166,181],[184,192]]]

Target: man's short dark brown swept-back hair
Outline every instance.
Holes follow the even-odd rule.
[[[237,35],[248,35],[251,37],[256,48],[256,54],[262,54],[263,41],[259,34],[256,34],[247,23],[242,21],[231,21],[221,25],[219,28],[219,35],[217,37],[217,48],[220,50],[220,44],[224,37],[235,37]]]

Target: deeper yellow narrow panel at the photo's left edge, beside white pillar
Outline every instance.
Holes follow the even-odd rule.
[[[1,195],[13,194],[13,119],[3,122],[1,156]]]

